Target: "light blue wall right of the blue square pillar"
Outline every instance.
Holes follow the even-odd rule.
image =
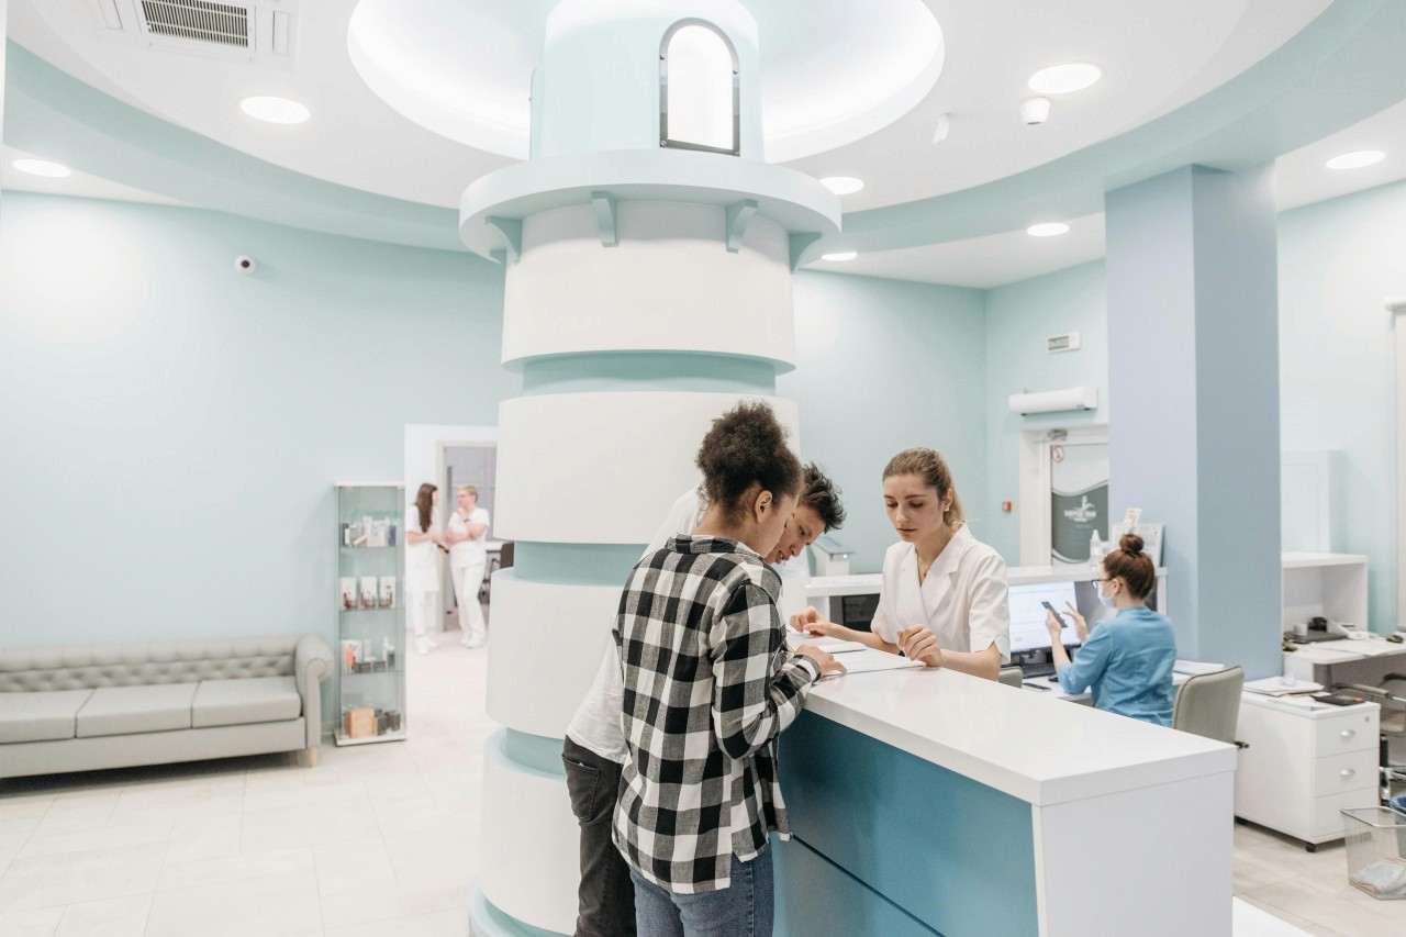
[[[1406,183],[1279,215],[1279,400],[1286,450],[1336,449],[1337,549],[1365,553],[1374,630],[1396,625],[1395,342]],[[1406,625],[1403,622],[1402,625]]]

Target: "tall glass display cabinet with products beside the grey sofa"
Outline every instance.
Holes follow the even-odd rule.
[[[337,484],[339,746],[406,737],[405,485]]]

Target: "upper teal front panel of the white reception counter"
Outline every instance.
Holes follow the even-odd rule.
[[[780,765],[794,836],[928,929],[1039,933],[1029,803],[813,713]]]

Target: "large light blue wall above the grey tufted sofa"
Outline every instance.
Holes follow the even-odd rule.
[[[468,255],[6,193],[0,283],[0,644],[330,640],[332,483],[519,390]]]

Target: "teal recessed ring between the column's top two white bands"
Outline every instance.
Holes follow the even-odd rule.
[[[591,391],[776,393],[776,363],[688,352],[603,352],[524,362],[523,394]]]

